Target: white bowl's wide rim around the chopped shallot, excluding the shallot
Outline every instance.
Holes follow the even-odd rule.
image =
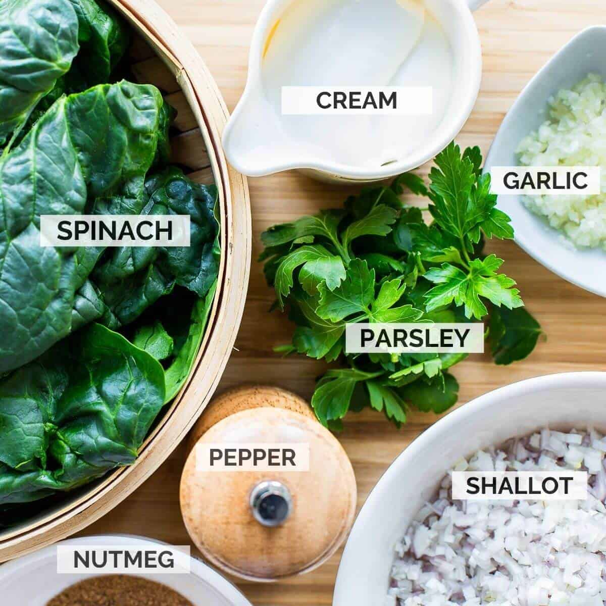
[[[605,400],[606,373],[549,375],[490,391],[432,425],[368,496],[345,545],[333,606],[384,604],[396,542],[456,461],[545,426],[604,431]]]

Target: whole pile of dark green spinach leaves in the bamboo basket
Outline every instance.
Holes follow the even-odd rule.
[[[218,190],[168,165],[155,87],[108,84],[129,39],[102,2],[0,0],[0,527],[135,461],[215,297]],[[158,213],[189,247],[41,245],[41,215]]]

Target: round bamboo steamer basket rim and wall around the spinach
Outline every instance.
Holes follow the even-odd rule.
[[[142,445],[134,465],[110,472],[35,518],[0,531],[0,562],[76,533],[116,507],[145,481],[187,435],[215,391],[244,308],[251,258],[251,221],[245,178],[228,166],[221,135],[228,112],[193,45],[153,0],[106,0],[135,31],[134,79],[155,84],[178,110],[172,161],[194,181],[219,190],[221,262],[215,301],[190,377]],[[41,507],[44,507],[41,505]]]

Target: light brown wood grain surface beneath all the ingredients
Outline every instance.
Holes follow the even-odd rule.
[[[235,107],[245,84],[248,44],[263,0],[159,0],[196,45],[225,96]],[[533,74],[574,34],[604,21],[599,0],[491,0],[476,13],[484,51],[484,79],[461,144],[488,150],[508,108]],[[425,167],[426,170],[426,167]],[[341,204],[347,189],[330,187],[297,173],[250,179],[253,258],[259,234],[276,222]],[[604,370],[604,300],[562,281],[525,255],[513,242],[491,242],[504,269],[519,282],[527,307],[547,340],[525,362],[497,367],[488,356],[471,356],[454,369],[460,404],[520,379],[576,370]],[[288,340],[291,325],[268,313],[272,291],[253,261],[244,319],[219,391],[246,381],[276,384],[309,398],[324,364],[304,358],[277,358],[273,345]],[[413,414],[400,431],[374,413],[352,415],[339,436],[358,480],[359,505],[390,462],[428,425],[432,415]],[[462,439],[465,439],[462,436]],[[189,544],[178,502],[185,448],[173,456],[127,501],[95,525],[92,533],[144,534],[173,544]],[[371,558],[372,554],[368,554]],[[274,585],[238,583],[255,606],[331,604],[340,553],[313,573]],[[360,574],[364,574],[361,570]]]

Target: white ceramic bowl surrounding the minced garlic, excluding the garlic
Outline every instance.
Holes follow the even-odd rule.
[[[561,88],[571,88],[588,73],[606,78],[606,27],[590,27],[575,36],[543,67],[513,104],[486,159],[493,166],[516,166],[520,141],[547,119],[547,101]],[[498,206],[511,217],[516,242],[539,263],[596,295],[606,296],[606,253],[576,250],[561,232],[531,213],[521,196],[499,196]]]

